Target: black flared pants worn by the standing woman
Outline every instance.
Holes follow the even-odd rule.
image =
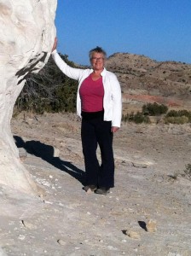
[[[102,117],[82,119],[82,147],[84,154],[86,185],[114,187],[113,132],[111,122]],[[101,149],[101,164],[97,160],[96,148]]]

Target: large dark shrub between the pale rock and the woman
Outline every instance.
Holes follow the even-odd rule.
[[[67,57],[61,55],[64,61],[75,67]],[[78,82],[68,79],[55,65],[55,61],[49,58],[48,63],[39,73],[29,75],[15,103],[14,113],[22,110],[34,113],[74,112],[77,88]]]

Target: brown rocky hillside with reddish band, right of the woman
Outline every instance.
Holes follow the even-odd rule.
[[[123,91],[124,110],[158,102],[169,108],[191,109],[191,65],[176,61],[154,61],[144,55],[116,53],[107,60]]]

